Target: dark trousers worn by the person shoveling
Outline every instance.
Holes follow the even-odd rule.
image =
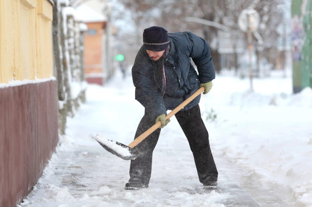
[[[199,105],[197,104],[188,111],[179,111],[175,116],[193,152],[199,181],[201,183],[205,181],[217,181],[218,171],[212,157],[208,139],[209,135],[202,121]],[[155,117],[149,117],[145,112],[135,133],[135,137],[140,136],[154,124]],[[159,134],[160,129],[157,129],[135,146],[135,149],[139,151],[140,155],[136,159],[131,160],[130,181],[149,183],[152,172],[153,150],[157,144]]]

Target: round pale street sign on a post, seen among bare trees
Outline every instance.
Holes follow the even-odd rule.
[[[238,16],[238,25],[244,32],[248,31],[248,16],[249,16],[249,27],[252,32],[258,29],[260,23],[260,16],[254,9],[244,9]]]

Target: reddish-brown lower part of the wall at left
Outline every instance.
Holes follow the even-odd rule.
[[[56,81],[0,88],[0,206],[15,206],[58,141]]]

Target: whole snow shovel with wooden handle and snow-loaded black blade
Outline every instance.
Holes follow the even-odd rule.
[[[201,94],[205,90],[204,87],[200,87],[193,95],[191,95],[188,99],[182,102],[182,104],[178,105],[175,109],[173,109],[168,115],[165,117],[165,120],[171,118],[174,114],[180,111],[183,107],[185,107],[188,103],[190,103],[193,99],[195,99],[199,94]],[[113,140],[108,140],[100,135],[92,136],[100,145],[107,151],[112,154],[117,155],[118,157],[124,160],[135,159],[139,156],[139,152],[133,149],[136,145],[138,145],[141,141],[143,141],[147,136],[153,133],[156,129],[161,126],[161,122],[157,122],[148,130],[146,130],[143,134],[138,136],[135,140],[133,140],[128,146],[124,145],[120,142],[116,142]]]

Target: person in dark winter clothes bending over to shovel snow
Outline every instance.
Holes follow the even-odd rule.
[[[191,64],[197,66],[197,72]],[[132,67],[135,99],[145,108],[135,137],[154,123],[165,127],[167,110],[172,110],[190,97],[200,86],[207,94],[212,88],[215,70],[208,43],[191,32],[168,33],[153,26],[143,32],[143,45]],[[201,118],[200,95],[175,114],[193,152],[199,181],[204,186],[217,187],[218,172],[210,150],[208,132]],[[152,154],[161,129],[157,129],[135,146],[140,156],[131,160],[130,179],[126,190],[149,186]],[[177,156],[179,156],[177,154]],[[164,172],[165,173],[165,172]],[[177,175],[178,176],[178,175]]]

